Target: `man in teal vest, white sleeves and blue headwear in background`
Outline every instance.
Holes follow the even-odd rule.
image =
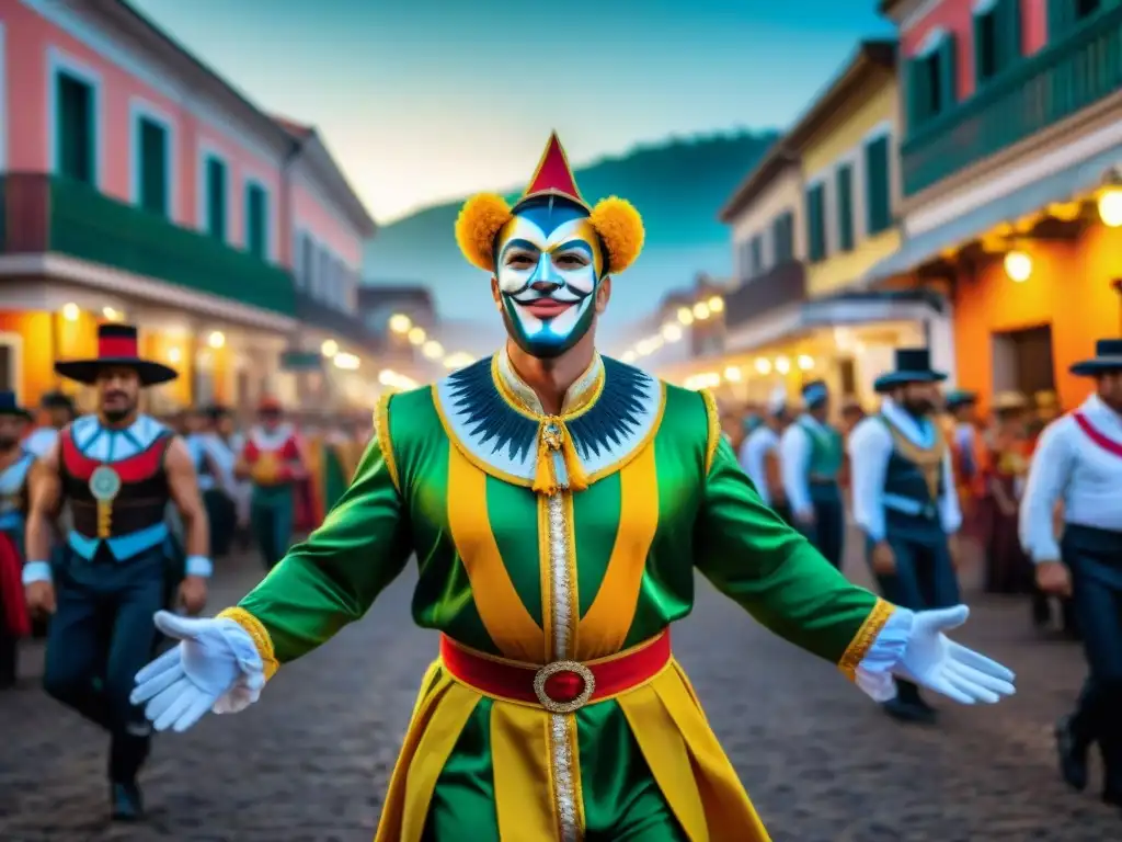
[[[829,423],[830,393],[824,381],[802,387],[806,411],[780,439],[783,491],[794,525],[839,570],[845,550],[845,506],[838,474],[845,446]]]

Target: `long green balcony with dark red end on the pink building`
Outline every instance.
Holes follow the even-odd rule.
[[[0,254],[56,254],[295,315],[292,275],[89,185],[38,173],[0,177]]]

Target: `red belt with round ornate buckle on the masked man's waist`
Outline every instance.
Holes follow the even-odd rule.
[[[654,678],[670,661],[670,630],[607,658],[544,667],[484,655],[442,634],[440,658],[454,679],[488,696],[572,713]]]

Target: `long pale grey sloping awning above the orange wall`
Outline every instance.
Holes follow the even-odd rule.
[[[1002,222],[1020,219],[1054,202],[1065,202],[1073,196],[1087,193],[1101,184],[1103,173],[1116,166],[1120,161],[1122,161],[1122,146],[1113,146],[1066,170],[1046,175],[1020,190],[994,199],[945,225],[905,239],[895,253],[866,272],[857,282],[857,286],[871,286],[909,272],[944,249],[975,239]]]

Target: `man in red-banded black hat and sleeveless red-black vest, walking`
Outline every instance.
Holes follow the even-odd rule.
[[[191,455],[182,439],[138,410],[140,390],[174,379],[175,370],[142,359],[137,330],[128,324],[100,326],[98,351],[95,359],[55,363],[61,376],[96,387],[99,409],[65,428],[40,463],[24,585],[33,612],[54,614],[44,687],[109,731],[112,815],[135,821],[142,813],[137,775],[151,729],[129,694],[136,670],[154,655],[151,614],[165,605],[169,501],[186,530],[178,596],[190,613],[205,604],[211,562]],[[50,527],[64,500],[73,528],[65,562],[53,571]]]

